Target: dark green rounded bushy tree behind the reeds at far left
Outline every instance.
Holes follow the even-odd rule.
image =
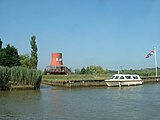
[[[0,65],[8,67],[20,66],[18,51],[14,46],[8,44],[6,48],[0,49]]]

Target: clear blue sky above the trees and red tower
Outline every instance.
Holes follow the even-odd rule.
[[[160,65],[160,0],[0,0],[0,38],[19,54],[30,54],[36,36],[38,68],[62,52],[72,70],[90,65],[104,69]]]

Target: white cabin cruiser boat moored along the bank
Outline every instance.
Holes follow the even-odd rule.
[[[130,74],[115,74],[109,80],[105,80],[107,86],[131,86],[131,85],[142,85],[143,80],[139,75]]]

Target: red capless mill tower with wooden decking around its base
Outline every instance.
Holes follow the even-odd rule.
[[[70,74],[71,69],[63,65],[62,53],[52,53],[51,64],[45,68],[46,74]]]

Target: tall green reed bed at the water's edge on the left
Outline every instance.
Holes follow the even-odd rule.
[[[1,67],[0,66],[0,89],[7,89],[12,85],[34,85],[41,83],[42,72],[24,67]]]

